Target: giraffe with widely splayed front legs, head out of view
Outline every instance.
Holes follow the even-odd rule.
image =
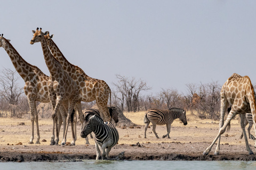
[[[211,145],[203,152],[204,155],[208,155],[211,151],[214,143],[219,139],[214,155],[219,155],[220,151],[220,135],[226,131],[227,125],[231,119],[237,114],[241,116],[241,128],[243,130],[246,150],[249,154],[253,154],[245,132],[244,118],[246,113],[252,113],[254,130],[256,132],[256,115],[255,115],[255,91],[253,89],[251,80],[248,76],[242,77],[234,73],[231,77],[223,84],[220,92],[221,96],[221,112],[220,112],[220,131],[217,137],[213,140]],[[225,112],[227,111],[228,105],[232,106],[231,111],[226,118],[224,123]],[[254,143],[256,148],[256,142]]]

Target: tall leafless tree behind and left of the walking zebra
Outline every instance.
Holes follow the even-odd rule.
[[[126,78],[121,75],[116,75],[118,79],[117,83],[113,83],[116,87],[115,97],[121,101],[121,107],[124,111],[124,104],[126,105],[128,112],[139,111],[139,98],[141,91],[147,91],[151,88],[147,86],[147,83],[143,80],[135,80],[135,78]]]

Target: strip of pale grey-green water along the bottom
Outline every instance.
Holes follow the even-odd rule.
[[[84,160],[83,162],[0,163],[0,169],[255,169],[254,161]]]

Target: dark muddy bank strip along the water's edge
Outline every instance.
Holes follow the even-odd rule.
[[[7,153],[0,154],[0,162],[78,162],[85,159],[95,159],[94,154],[34,154],[34,153]],[[110,156],[110,160],[256,160],[256,155],[183,155],[183,154],[167,154],[167,155],[150,155],[138,154],[123,156]]]

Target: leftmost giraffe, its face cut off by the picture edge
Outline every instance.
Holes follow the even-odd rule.
[[[5,49],[5,51],[11,58],[11,61],[15,70],[17,70],[17,72],[20,74],[21,78],[25,82],[24,92],[28,98],[30,120],[31,120],[31,137],[29,140],[29,144],[34,143],[33,140],[34,140],[35,123],[36,123],[36,133],[37,133],[36,143],[40,144],[36,101],[39,101],[41,103],[50,102],[48,91],[47,91],[47,82],[49,81],[49,76],[45,75],[40,69],[38,69],[38,67],[26,62],[9,41],[10,41],[9,39],[5,39],[3,37],[3,34],[2,34],[2,37],[0,36],[0,47],[3,47]],[[58,116],[59,116],[59,112],[58,112]],[[65,113],[61,112],[61,116],[63,120],[66,120]],[[62,123],[62,120],[59,118],[59,124],[61,125],[61,123]],[[58,130],[60,130],[60,127]],[[56,140],[58,140],[58,138],[59,137],[57,135]]]

